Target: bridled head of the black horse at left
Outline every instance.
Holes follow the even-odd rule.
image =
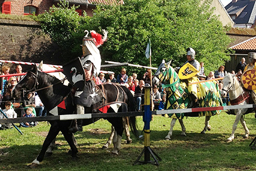
[[[33,65],[33,69],[30,70],[22,79],[15,85],[15,89],[12,91],[13,98],[21,98],[21,93],[26,95],[29,92],[36,90],[37,86],[38,68]]]

